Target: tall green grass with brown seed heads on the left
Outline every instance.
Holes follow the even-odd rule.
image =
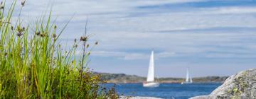
[[[68,23],[58,32],[51,12],[35,23],[22,23],[21,16],[11,22],[16,6],[21,15],[24,4],[19,3],[0,6],[0,98],[118,98],[114,88],[101,88],[104,81],[87,68],[91,49],[86,32],[63,50],[58,40]]]

